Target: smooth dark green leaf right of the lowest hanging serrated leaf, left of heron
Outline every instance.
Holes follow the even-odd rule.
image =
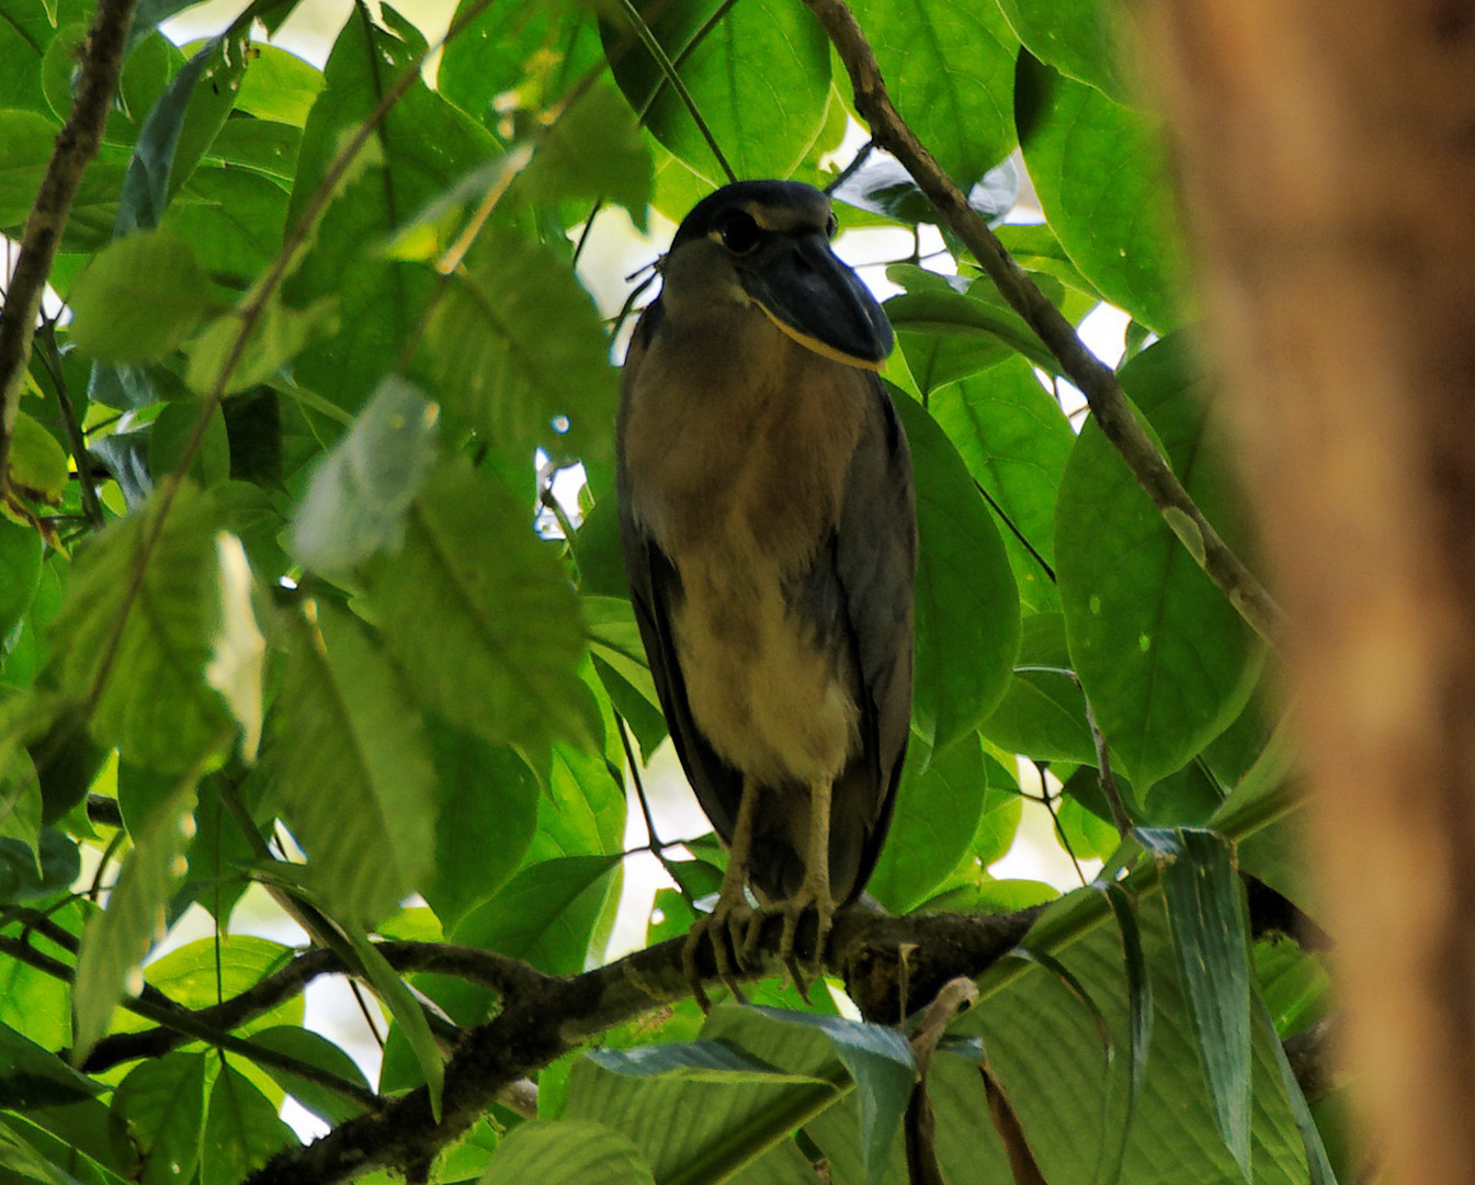
[[[509,745],[429,722],[435,872],[420,890],[451,931],[518,871],[538,818],[538,779]]]

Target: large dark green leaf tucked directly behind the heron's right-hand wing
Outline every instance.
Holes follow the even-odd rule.
[[[999,702],[1019,645],[1019,593],[957,450],[912,398],[892,401],[912,444],[920,550],[913,722],[947,748]]]

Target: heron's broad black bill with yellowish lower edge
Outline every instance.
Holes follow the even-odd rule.
[[[739,274],[743,291],[807,350],[867,370],[891,353],[891,322],[825,236],[774,236],[742,260]]]

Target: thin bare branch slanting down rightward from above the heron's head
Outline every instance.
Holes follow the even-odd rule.
[[[1137,484],[1148,491],[1189,555],[1223,590],[1240,617],[1273,645],[1280,633],[1280,608],[1189,497],[1183,483],[1137,422],[1111,367],[1103,366],[1086,348],[1071,323],[1025,276],[982,217],[968,205],[966,195],[897,114],[886,94],[876,55],[854,13],[844,0],[804,3],[819,18],[845,63],[856,91],[856,111],[870,125],[875,143],[901,161],[940,218],[974,252],[1010,308],[1034,329],[1065,375],[1081,390],[1100,429],[1121,453]]]

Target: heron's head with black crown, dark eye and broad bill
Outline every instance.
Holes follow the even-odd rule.
[[[829,198],[798,182],[738,182],[698,202],[661,269],[662,303],[681,317],[754,305],[799,345],[879,369],[892,335],[876,298],[830,249]]]

